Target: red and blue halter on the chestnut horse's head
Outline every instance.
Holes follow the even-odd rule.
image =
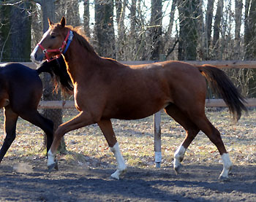
[[[46,49],[41,44],[37,44],[37,45],[42,49],[42,53],[45,54],[46,60],[48,62],[50,62],[50,61],[53,61],[53,60],[59,58],[62,53],[64,54],[64,53],[67,52],[67,49],[69,48],[69,44],[72,42],[73,36],[74,36],[73,32],[71,30],[69,30],[69,32],[67,33],[66,38],[62,42],[61,47],[59,47],[58,49]],[[66,48],[63,51],[65,46],[66,46]],[[50,52],[59,52],[59,54],[53,56],[53,58],[50,58],[49,55],[48,55],[48,53],[50,53]]]

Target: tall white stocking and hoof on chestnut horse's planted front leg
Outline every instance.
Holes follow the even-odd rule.
[[[116,163],[117,163],[117,170],[116,172],[114,172],[113,174],[111,174],[111,176],[114,179],[119,179],[119,176],[121,174],[124,174],[127,171],[127,165],[124,162],[124,158],[121,155],[119,146],[118,146],[118,142],[116,142],[116,144],[113,147],[110,147],[110,150],[114,153],[115,157],[116,157]]]

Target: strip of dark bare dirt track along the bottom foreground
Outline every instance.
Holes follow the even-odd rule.
[[[206,164],[184,166],[178,176],[171,168],[129,168],[117,181],[109,168],[60,163],[48,173],[42,163],[1,163],[0,201],[256,201],[256,166],[234,166],[227,182],[217,179],[222,166]]]

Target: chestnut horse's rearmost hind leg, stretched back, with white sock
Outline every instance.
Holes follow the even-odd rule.
[[[211,142],[214,143],[217,149],[219,150],[219,154],[221,155],[223,162],[223,170],[222,173],[219,175],[219,179],[227,179],[228,173],[231,170],[233,164],[227,153],[227,150],[222,141],[222,137],[220,136],[219,131],[216,128],[214,128],[214,125],[210,123],[210,121],[206,117],[206,114],[197,115],[196,113],[192,113],[190,114],[190,117],[193,120],[193,122],[197,125],[197,127],[200,128],[200,130],[203,131],[203,133],[205,133],[206,136],[208,136]]]

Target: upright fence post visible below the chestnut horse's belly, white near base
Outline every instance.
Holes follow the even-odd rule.
[[[161,111],[154,114],[154,161],[156,168],[160,168],[162,161],[161,152]]]

